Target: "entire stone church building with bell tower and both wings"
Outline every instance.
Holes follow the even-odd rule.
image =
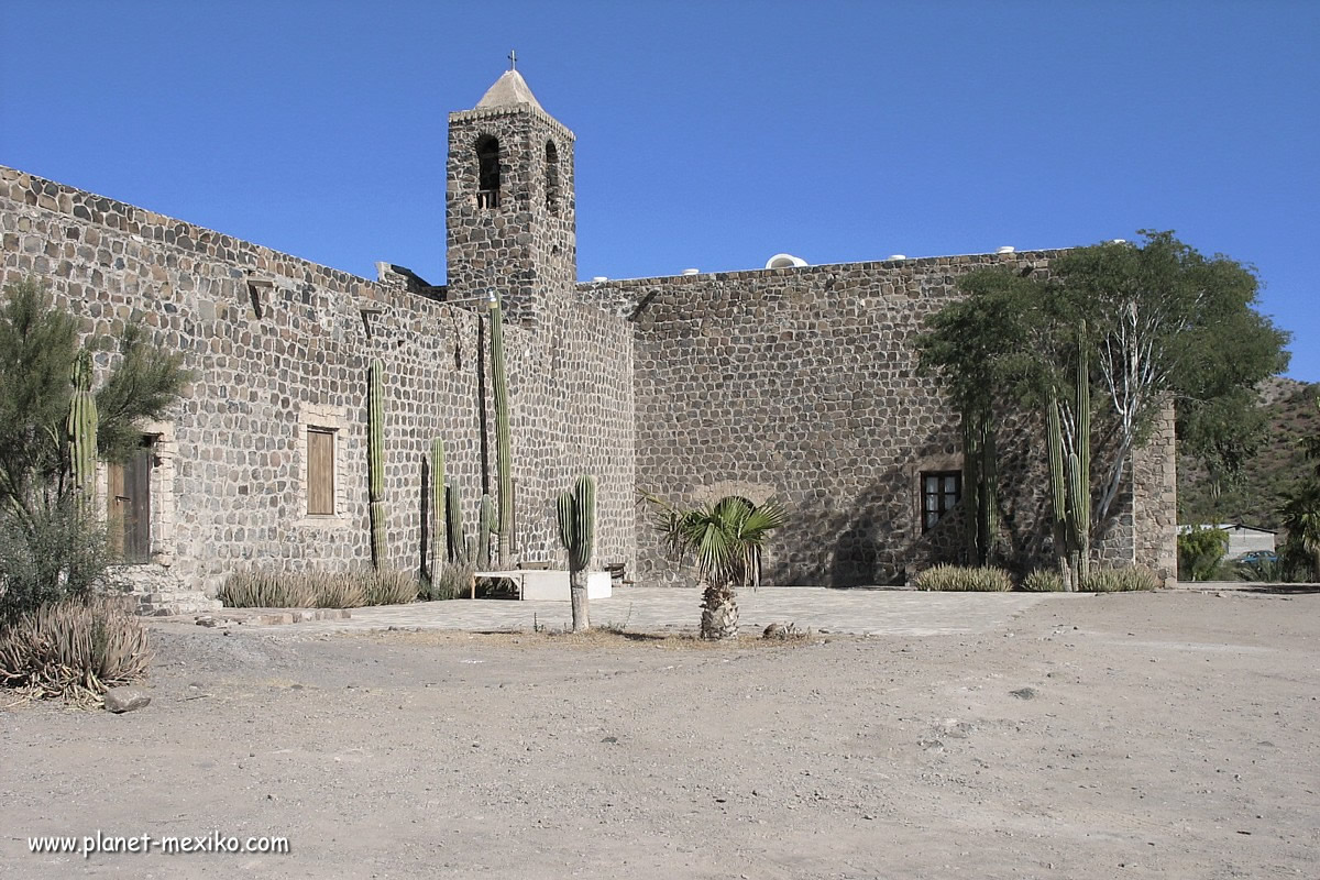
[[[392,563],[421,565],[436,437],[475,522],[494,493],[491,289],[504,303],[516,558],[562,562],[553,497],[582,472],[599,482],[598,565],[623,563],[639,583],[682,578],[639,491],[777,497],[789,524],[767,554],[770,583],[892,583],[956,555],[957,417],[916,375],[912,343],[960,274],[1030,273],[1051,253],[781,255],[746,272],[579,282],[573,149],[512,70],[450,115],[442,286],[388,263],[360,278],[0,168],[0,281],[41,280],[88,334],[143,325],[195,376],[168,421],[143,425],[141,454],[100,475],[144,591],[214,595],[253,565],[367,565],[378,358]],[[111,355],[98,358],[107,369]],[[1024,565],[1045,532],[1040,479],[1026,476],[1041,451],[1014,449],[1022,479],[1003,521]],[[1175,541],[1166,425],[1134,462],[1101,555],[1168,574]]]

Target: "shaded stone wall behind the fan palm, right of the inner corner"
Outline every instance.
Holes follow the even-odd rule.
[[[921,530],[921,472],[962,468],[957,414],[936,381],[916,373],[923,322],[958,296],[958,276],[991,265],[1043,270],[1049,257],[635,278],[583,284],[578,296],[636,327],[642,489],[680,504],[777,496],[789,522],[767,554],[767,581],[888,583],[956,558],[962,540],[961,511]],[[1008,537],[1026,565],[1045,551],[1038,528],[1045,492],[1043,451],[1023,437],[1002,443],[1001,470],[1019,475],[1002,491]],[[1101,553],[1122,537],[1106,536]],[[1126,538],[1130,559],[1130,528]],[[682,579],[644,520],[638,548],[640,578]],[[1142,561],[1152,549],[1142,548]]]

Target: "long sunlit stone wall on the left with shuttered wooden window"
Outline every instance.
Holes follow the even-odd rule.
[[[494,443],[483,443],[482,434],[479,401],[483,392],[488,398],[488,383],[484,329],[474,310],[408,293],[400,276],[367,281],[0,168],[0,284],[28,276],[49,284],[86,332],[141,323],[183,352],[197,376],[168,422],[147,427],[169,435],[169,484],[160,487],[162,499],[153,492],[161,521],[153,524],[152,549],[156,567],[178,582],[214,594],[238,566],[368,563],[371,358],[385,364],[391,562],[418,567],[422,464],[437,434],[446,442],[450,479],[462,487],[469,529],[475,528],[495,462]],[[602,554],[631,558],[630,329],[603,314],[577,318],[545,329],[558,331],[566,355],[556,355],[544,332],[506,327],[517,542],[529,555],[554,555],[553,522],[544,519],[548,482],[537,480],[573,470],[572,460],[601,471]],[[102,375],[111,364],[111,354],[98,356]],[[570,393],[581,381],[593,381],[593,393]],[[492,438],[488,400],[486,413]],[[539,441],[550,420],[561,438],[556,445]],[[306,516],[309,426],[337,431],[331,517]],[[165,474],[157,468],[157,479]]]

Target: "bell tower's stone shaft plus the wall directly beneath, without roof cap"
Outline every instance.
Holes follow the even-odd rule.
[[[480,198],[477,144],[483,137],[499,140],[498,204]],[[554,145],[553,175],[546,144]],[[531,331],[523,368],[510,381],[524,401],[513,414],[513,459],[520,516],[525,511],[535,524],[525,555],[565,559],[548,528],[553,500],[587,472],[598,480],[597,563],[623,562],[631,570],[632,327],[573,298],[573,133],[532,104],[450,113],[447,296],[480,298],[494,286],[508,322]]]

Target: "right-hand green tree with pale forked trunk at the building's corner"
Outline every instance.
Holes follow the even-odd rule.
[[[1064,314],[1096,329],[1098,384],[1117,449],[1098,507],[1107,512],[1123,466],[1166,396],[1184,443],[1212,456],[1222,478],[1241,471],[1263,435],[1254,388],[1287,367],[1287,334],[1255,310],[1250,267],[1205,257],[1172,232],[1143,244],[1077,248],[1055,261]]]

